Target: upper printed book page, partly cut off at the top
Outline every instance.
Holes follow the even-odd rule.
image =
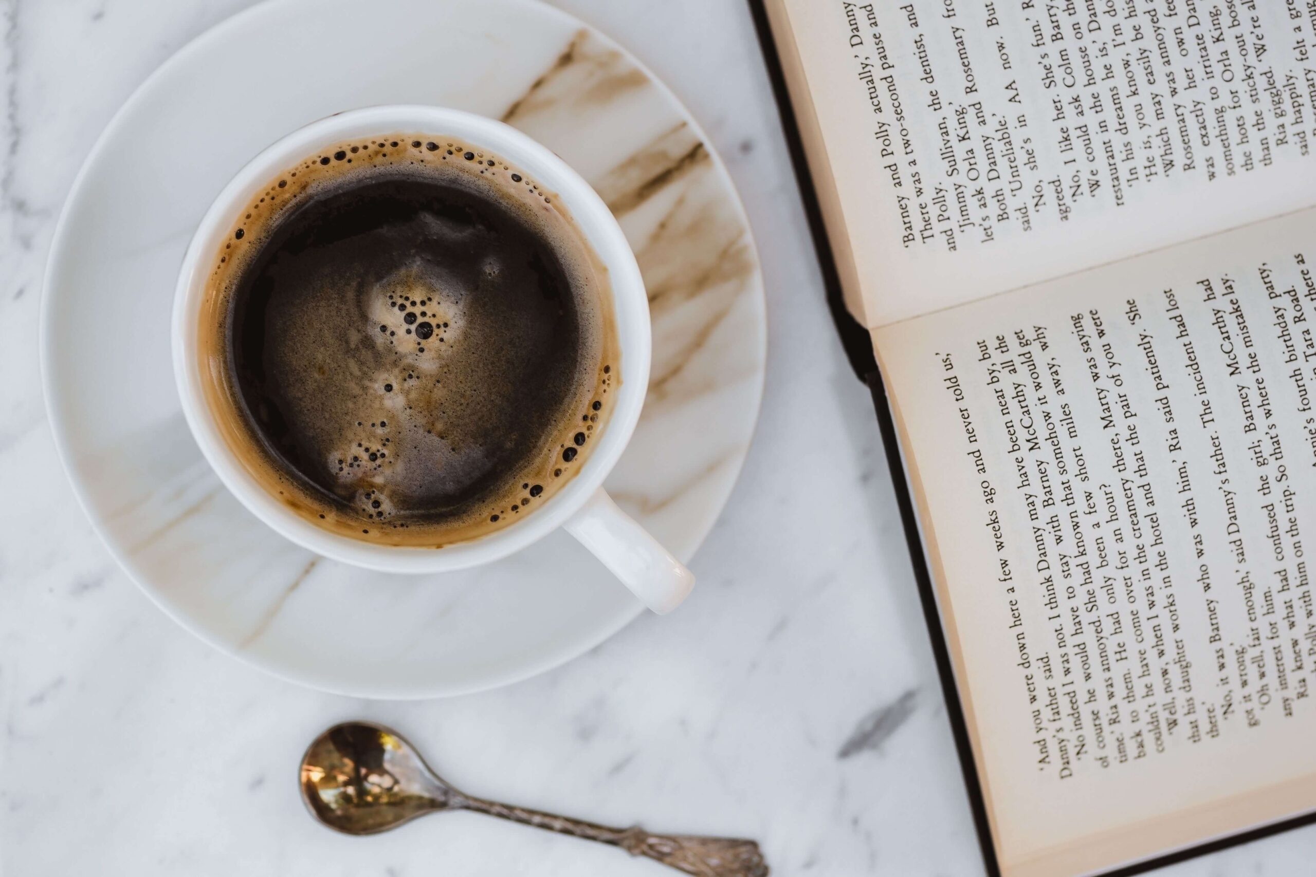
[[[869,327],[1316,204],[1311,4],[769,8]]]

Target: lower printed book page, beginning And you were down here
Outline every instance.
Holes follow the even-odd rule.
[[[1005,873],[1316,809],[1316,210],[874,338]]]

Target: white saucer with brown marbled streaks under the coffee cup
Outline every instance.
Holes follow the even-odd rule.
[[[504,117],[617,213],[649,287],[654,366],[608,489],[690,563],[758,414],[758,256],[725,168],[671,92],[538,3],[267,3],[174,55],[105,129],[59,220],[42,302],[46,400],[92,523],[184,627],[325,690],[458,694],[570,660],[640,605],[561,533],[443,576],[370,573],[297,548],[209,471],[170,366],[175,275],[212,197],[278,137],[371,104]],[[679,611],[699,611],[697,585]]]

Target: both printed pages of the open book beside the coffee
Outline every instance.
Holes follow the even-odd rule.
[[[1316,813],[1316,11],[765,4],[990,868]]]

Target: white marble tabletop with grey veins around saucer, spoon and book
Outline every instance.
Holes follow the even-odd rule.
[[[45,256],[114,109],[245,5],[0,0],[0,872],[666,873],[468,814],[370,839],[328,832],[297,798],[296,760],[322,726],[368,718],[478,794],[758,838],[775,874],[980,874],[876,427],[822,305],[742,0],[561,3],[690,105],[763,259],[759,431],[686,606],[511,688],[371,702],[211,650],[114,567],[45,419]],[[1309,873],[1313,855],[1309,827],[1163,873]]]

